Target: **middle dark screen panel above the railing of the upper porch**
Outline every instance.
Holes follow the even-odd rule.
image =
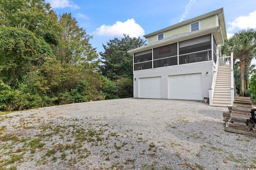
[[[153,59],[162,59],[178,55],[177,43],[153,49]]]

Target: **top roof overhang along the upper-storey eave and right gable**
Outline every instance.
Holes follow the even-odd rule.
[[[189,20],[185,20],[185,21],[182,21],[180,23],[176,23],[174,25],[171,25],[169,27],[166,27],[166,28],[163,28],[163,29],[160,29],[158,31],[155,31],[155,32],[152,32],[152,33],[149,33],[149,34],[146,34],[146,35],[143,35],[145,38],[148,38],[148,37],[151,37],[152,35],[157,35],[157,34],[160,34],[160,33],[163,33],[165,31],[168,31],[170,29],[174,29],[174,28],[177,28],[177,27],[180,27],[182,25],[187,25],[189,23],[192,23],[192,22],[195,22],[195,21],[198,21],[198,20],[202,20],[204,18],[208,18],[210,16],[214,16],[214,15],[220,15],[222,18],[222,20],[224,21],[224,14],[223,14],[224,10],[223,8],[220,8],[218,10],[214,10],[212,12],[208,12],[206,14],[203,14],[201,16],[197,16],[195,18],[191,18]],[[222,14],[222,15],[221,15]],[[224,25],[225,25],[225,21],[224,21]]]

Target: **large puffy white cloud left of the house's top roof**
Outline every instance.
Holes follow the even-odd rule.
[[[125,22],[116,21],[113,25],[101,25],[94,33],[103,36],[122,37],[126,34],[130,37],[139,37],[144,35],[145,31],[134,19],[128,19]]]

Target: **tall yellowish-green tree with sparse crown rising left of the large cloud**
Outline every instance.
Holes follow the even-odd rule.
[[[71,14],[62,14],[58,21],[60,31],[57,36],[60,43],[52,46],[56,59],[69,65],[82,65],[86,68],[96,68],[98,66],[98,55],[96,49],[92,48],[89,40],[92,36],[78,25]]]

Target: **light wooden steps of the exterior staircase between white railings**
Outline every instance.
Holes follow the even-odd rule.
[[[212,106],[231,105],[231,64],[218,66]]]

